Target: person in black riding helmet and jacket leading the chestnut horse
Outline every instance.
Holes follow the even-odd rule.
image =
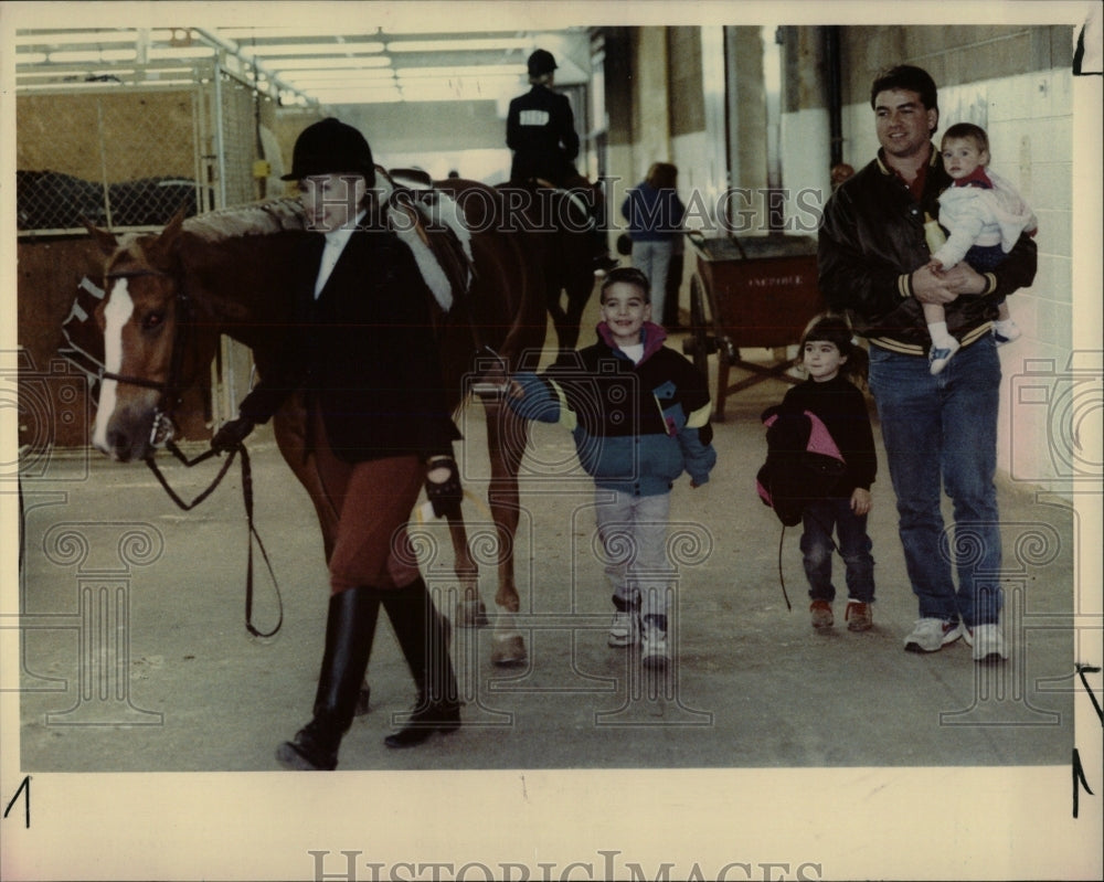
[[[286,359],[261,379],[211,445],[234,447],[293,392],[304,393],[310,455],[337,531],[314,718],[276,756],[288,768],[331,769],[357,706],[381,605],[418,689],[410,722],[385,743],[412,746],[460,724],[447,621],[405,535],[423,485],[438,514],[459,504],[452,453],[459,433],[446,403],[431,295],[372,191],[368,141],[337,119],[309,126],[285,179],[299,181],[308,226],[317,231],[302,246]]]

